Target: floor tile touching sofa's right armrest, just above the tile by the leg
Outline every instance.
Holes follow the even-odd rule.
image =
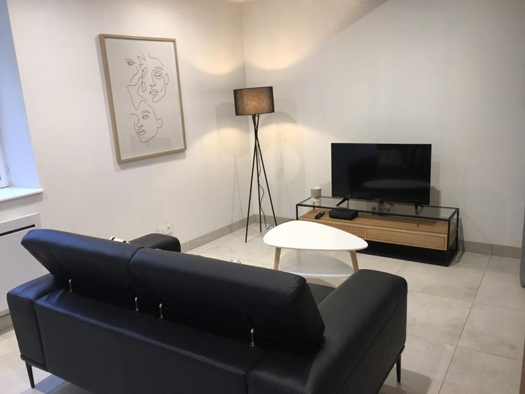
[[[471,303],[408,292],[407,333],[456,345]]]

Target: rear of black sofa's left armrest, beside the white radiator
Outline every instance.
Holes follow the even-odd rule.
[[[13,320],[20,354],[41,365],[46,365],[46,359],[35,313],[35,302],[38,298],[64,288],[65,285],[53,275],[46,274],[7,293],[7,305]]]

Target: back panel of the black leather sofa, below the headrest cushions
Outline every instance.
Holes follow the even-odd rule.
[[[170,381],[181,393],[245,392],[246,372],[265,354],[248,341],[64,290],[35,307],[48,370],[93,392],[165,392]]]

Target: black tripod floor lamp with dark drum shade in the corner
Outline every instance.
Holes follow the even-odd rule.
[[[275,218],[274,211],[274,203],[271,201],[270,186],[268,186],[268,178],[266,177],[266,169],[264,167],[264,161],[262,160],[259,136],[257,133],[257,130],[259,128],[259,115],[261,113],[270,113],[275,111],[274,88],[271,86],[267,86],[263,88],[234,89],[233,95],[235,100],[235,115],[251,115],[251,119],[254,122],[255,131],[254,158],[251,162],[250,195],[248,197],[248,218],[246,219],[246,235],[244,237],[244,242],[247,242],[248,224],[250,222],[251,186],[253,185],[254,181],[254,167],[257,168],[257,201],[259,203],[259,231],[262,232],[261,212],[262,215],[264,215],[264,211],[261,208],[262,197],[264,196],[264,189],[261,188],[259,182],[261,169],[264,173],[264,179],[266,181],[266,190],[268,191],[268,197],[270,198],[271,213],[272,215],[274,215],[274,222],[277,226],[277,219]],[[266,217],[264,218],[264,220],[266,223]]]

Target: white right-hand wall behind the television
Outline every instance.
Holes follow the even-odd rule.
[[[274,86],[259,138],[277,214],[330,194],[330,142],[432,143],[433,203],[467,241],[520,246],[525,2],[243,4],[247,86]]]

